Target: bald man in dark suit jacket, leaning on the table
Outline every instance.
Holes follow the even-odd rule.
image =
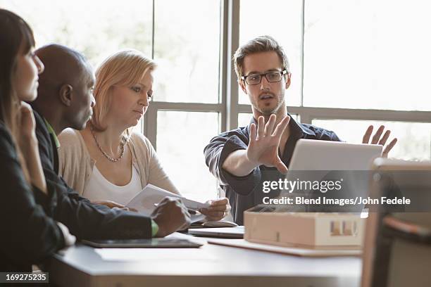
[[[136,212],[96,205],[79,196],[58,176],[58,139],[63,129],[85,128],[92,116],[94,72],[82,54],[51,44],[37,51],[45,65],[39,75],[38,97],[32,103],[39,153],[46,185],[56,192],[54,219],[82,238],[151,238],[165,236],[190,224],[180,200],[165,198],[145,217]]]

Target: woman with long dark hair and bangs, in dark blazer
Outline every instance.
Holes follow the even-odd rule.
[[[35,118],[24,101],[37,97],[44,65],[35,56],[29,25],[0,9],[0,272],[31,272],[56,250],[73,244],[68,229],[49,217],[55,191],[46,189]]]

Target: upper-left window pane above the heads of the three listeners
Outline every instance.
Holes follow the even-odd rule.
[[[151,56],[151,0],[0,0],[32,27],[37,47],[63,44],[81,51],[96,66],[119,49]],[[115,25],[113,25],[115,23]]]

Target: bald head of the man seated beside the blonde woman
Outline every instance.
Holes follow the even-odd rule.
[[[32,106],[58,129],[83,129],[94,106],[92,66],[80,52],[58,44],[43,46],[35,54],[45,70]]]

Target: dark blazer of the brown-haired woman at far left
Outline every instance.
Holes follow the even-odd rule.
[[[64,247],[52,215],[56,193],[27,184],[8,129],[0,122],[0,272],[31,272]]]

